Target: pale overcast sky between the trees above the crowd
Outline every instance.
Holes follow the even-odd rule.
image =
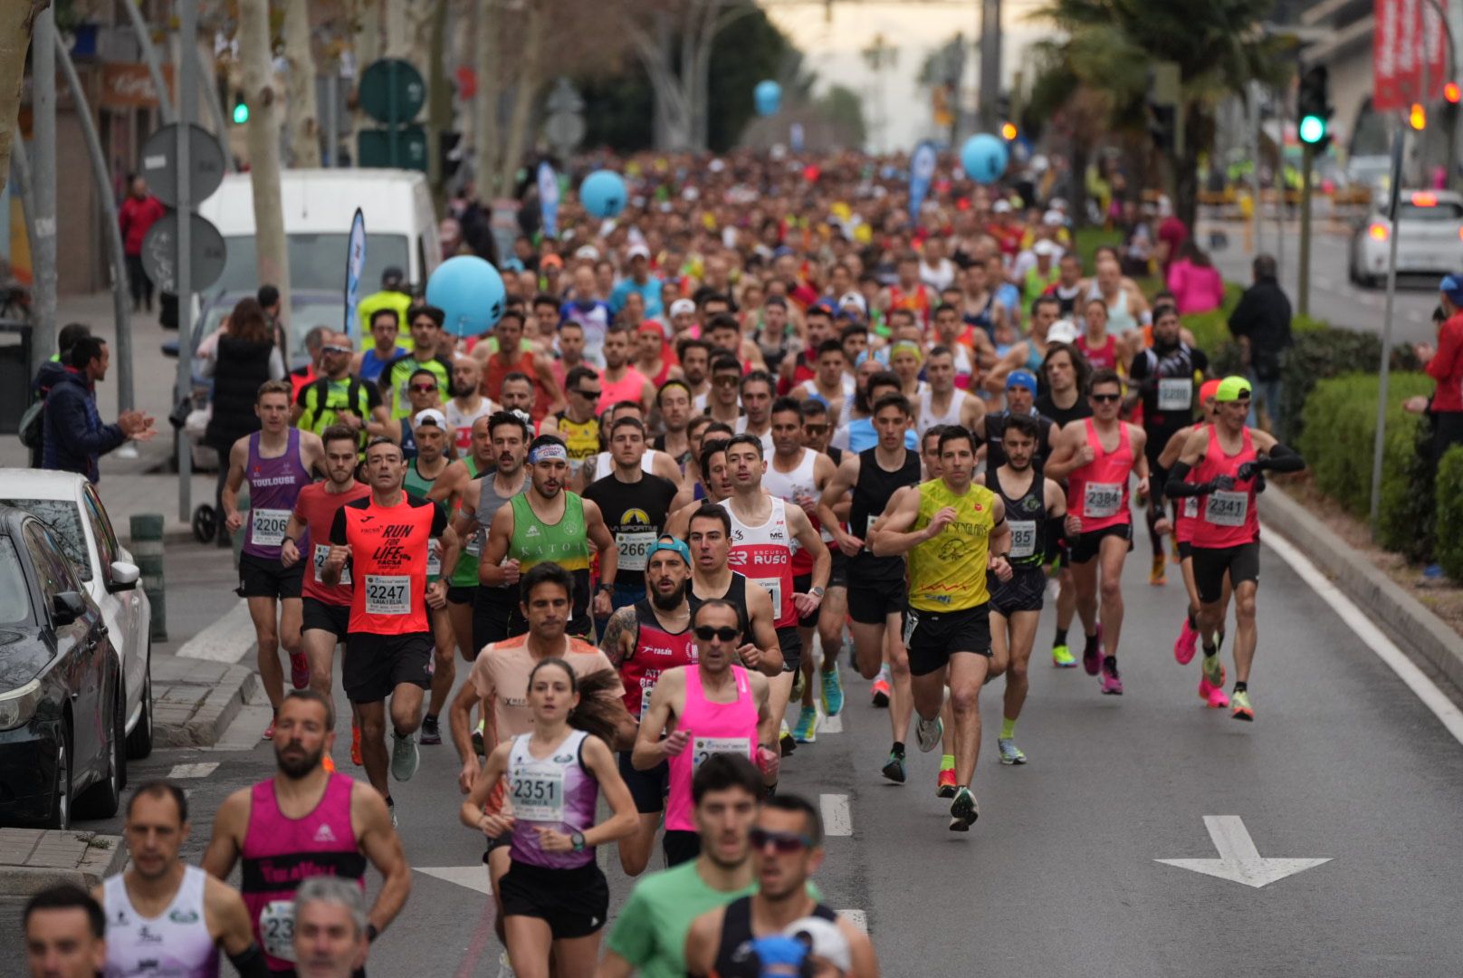
[[[787,32],[818,72],[819,88],[846,85],[865,98],[863,117],[869,123],[870,149],[879,149],[876,123],[882,98],[885,142],[891,149],[910,149],[930,133],[930,105],[926,91],[914,83],[925,56],[941,47],[957,31],[970,42],[979,35],[980,4],[922,3],[920,0],[834,0],[832,19],[825,18],[819,0],[767,0],[772,20]],[[1007,85],[1020,67],[1021,51],[1049,28],[1033,25],[1027,15],[1039,0],[1007,0],[1002,10],[1005,44],[1002,75]],[[898,61],[875,82],[863,57],[875,35],[884,34],[898,48]],[[974,88],[974,56],[966,64],[966,85]],[[1030,85],[1030,72],[1026,85]]]

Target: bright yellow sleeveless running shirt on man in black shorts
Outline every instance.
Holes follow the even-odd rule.
[[[922,482],[919,515],[910,530],[923,530],[945,507],[955,508],[955,521],[909,553],[910,608],[914,611],[966,611],[990,597],[986,553],[995,493],[973,482],[966,495],[957,496],[944,479]]]

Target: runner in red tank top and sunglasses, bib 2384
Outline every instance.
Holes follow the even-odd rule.
[[[1128,479],[1137,476],[1138,501],[1144,502],[1148,495],[1147,435],[1137,425],[1119,420],[1122,381],[1115,370],[1093,373],[1087,401],[1093,416],[1062,429],[1046,463],[1046,474],[1067,479],[1068,555],[1077,587],[1077,613],[1087,637],[1083,668],[1090,676],[1102,673],[1105,694],[1122,695],[1122,679],[1118,676],[1122,562],[1132,549]]]

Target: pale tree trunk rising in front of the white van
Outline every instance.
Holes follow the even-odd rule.
[[[249,177],[255,195],[255,256],[259,284],[279,288],[290,316],[290,262],[279,199],[279,100],[269,57],[269,0],[238,0],[238,60],[249,98]]]

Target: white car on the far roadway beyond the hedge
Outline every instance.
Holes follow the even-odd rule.
[[[1350,280],[1359,285],[1387,281],[1391,221],[1387,196],[1352,237]],[[1445,275],[1463,269],[1463,195],[1451,190],[1403,190],[1397,198],[1397,274]]]

